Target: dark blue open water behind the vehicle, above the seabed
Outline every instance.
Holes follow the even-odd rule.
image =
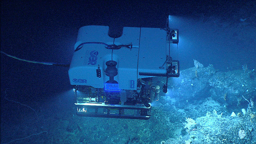
[[[85,25],[164,28],[168,15],[180,30],[173,58],[180,68],[193,59],[221,71],[255,68],[255,1],[1,1],[1,51],[16,57],[69,63],[77,31]],[[245,19],[241,21],[240,19]],[[1,113],[3,99],[50,101],[72,89],[68,68],[32,64],[1,54]],[[67,104],[71,100],[65,101]],[[32,104],[33,105],[33,104]]]

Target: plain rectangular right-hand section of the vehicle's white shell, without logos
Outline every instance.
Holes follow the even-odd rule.
[[[166,60],[166,32],[160,28],[141,28],[139,72],[166,73],[160,69]]]

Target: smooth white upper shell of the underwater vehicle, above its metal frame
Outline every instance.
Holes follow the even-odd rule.
[[[140,73],[166,73],[161,67],[166,60],[166,31],[160,28],[124,27],[121,37],[108,36],[108,26],[84,26],[79,29],[75,49],[85,42],[101,42],[105,44],[127,45],[132,49],[122,47],[118,50],[105,48],[103,44],[84,44],[73,54],[68,71],[72,85],[90,85],[94,88],[104,88],[109,80],[105,75],[106,62],[117,62],[118,75],[114,80],[119,89],[136,90],[137,79],[152,77]],[[97,77],[98,66],[101,77]],[[138,71],[137,71],[138,70]]]

